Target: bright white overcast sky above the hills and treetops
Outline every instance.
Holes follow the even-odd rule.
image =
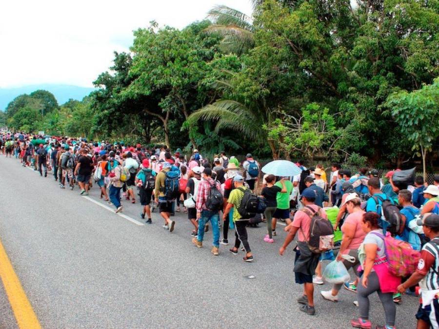
[[[0,88],[91,87],[151,20],[182,28],[217,4],[251,13],[249,0],[1,0]]]

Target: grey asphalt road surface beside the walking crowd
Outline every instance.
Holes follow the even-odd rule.
[[[93,187],[90,199],[99,199]],[[60,190],[51,176],[0,156],[0,239],[43,328],[349,328],[357,315],[355,294],[339,302],[321,299],[315,316],[299,311],[292,247],[279,256],[262,241],[263,228],[249,229],[254,263],[226,252],[210,253],[191,243],[190,223],[176,216],[176,229],[137,225],[79,195]],[[139,220],[140,205],[124,202],[126,216]],[[254,275],[254,279],[246,276]],[[0,287],[0,328],[16,328]],[[383,324],[376,295],[371,320]],[[398,328],[415,328],[416,297],[397,307]]]

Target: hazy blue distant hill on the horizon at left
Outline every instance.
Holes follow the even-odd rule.
[[[37,84],[16,88],[0,88],[0,110],[4,111],[6,106],[8,106],[8,103],[15,97],[21,94],[30,94],[38,89],[51,92],[60,105],[70,98],[82,100],[82,98],[95,90],[94,88],[69,86],[64,84]]]

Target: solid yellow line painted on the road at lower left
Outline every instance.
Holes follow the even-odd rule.
[[[20,279],[12,267],[6,251],[0,241],[0,277],[4,290],[14,311],[20,329],[40,329],[40,322],[21,287]]]

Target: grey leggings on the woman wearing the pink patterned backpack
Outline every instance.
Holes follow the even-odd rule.
[[[361,282],[361,280],[360,280]],[[384,314],[386,316],[386,325],[395,326],[396,307],[393,302],[393,293],[382,293],[379,289],[378,275],[376,272],[370,272],[367,278],[367,288],[364,288],[361,283],[357,287],[357,298],[359,304],[360,317],[363,320],[369,319],[369,298],[368,296],[377,291],[378,297],[381,300]]]

